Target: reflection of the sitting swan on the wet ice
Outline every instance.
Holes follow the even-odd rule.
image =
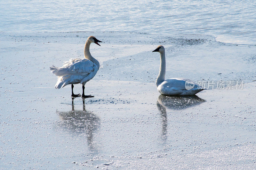
[[[164,141],[167,139],[167,114],[166,108],[172,110],[181,110],[188,107],[196,106],[205,102],[204,99],[199,98],[196,95],[193,96],[166,96],[159,95],[156,106],[160,112],[160,116],[162,119],[162,138]]]

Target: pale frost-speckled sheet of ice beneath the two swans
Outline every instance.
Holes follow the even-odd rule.
[[[95,97],[54,89],[49,67],[83,57],[100,62],[86,84]],[[166,78],[241,81],[194,97],[156,90],[159,54]],[[205,35],[1,33],[0,169],[255,169],[256,46]],[[82,91],[75,85],[75,93]]]

